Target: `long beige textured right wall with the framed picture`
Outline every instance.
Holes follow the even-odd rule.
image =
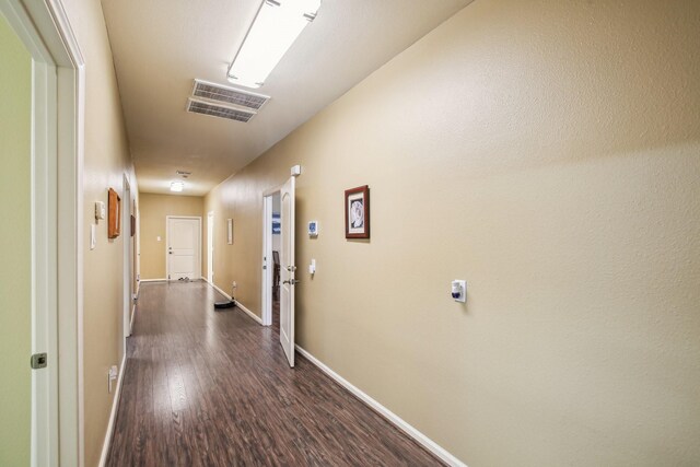
[[[217,283],[259,313],[261,194],[300,163],[302,347],[470,467],[699,464],[698,24],[476,1],[207,196]]]

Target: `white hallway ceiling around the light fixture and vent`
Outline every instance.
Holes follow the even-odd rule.
[[[293,1],[293,0],[292,0]],[[323,0],[248,124],[185,110],[225,79],[260,0],[102,0],[139,189],[205,195],[471,0]]]

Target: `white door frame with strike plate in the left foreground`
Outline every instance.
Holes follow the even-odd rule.
[[[85,61],[60,0],[0,12],[32,56],[32,465],[82,467]]]

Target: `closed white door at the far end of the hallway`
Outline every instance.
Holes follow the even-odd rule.
[[[199,218],[167,218],[167,278],[199,279]]]

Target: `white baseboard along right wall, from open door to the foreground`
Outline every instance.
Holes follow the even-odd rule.
[[[390,411],[389,409],[387,409],[386,407],[377,402],[375,399],[373,399],[372,397],[370,397],[369,395],[360,390],[357,386],[352,385],[350,382],[348,382],[346,378],[340,376],[338,373],[330,370],[328,366],[326,366],[326,364],[320,362],[318,359],[316,359],[314,355],[312,355],[306,350],[301,348],[299,345],[295,345],[294,347],[296,348],[296,351],[299,351],[299,353],[304,355],[306,360],[308,360],[314,365],[316,365],[322,372],[326,373],[328,376],[330,376],[331,380],[334,380],[336,383],[338,383],[339,385],[348,389],[358,399],[362,400],[365,405],[368,405],[371,409],[373,409],[378,415],[384,417],[396,428],[398,428],[404,433],[408,434],[410,437],[416,440],[421,446],[423,446],[424,448],[433,453],[442,462],[444,462],[445,464],[452,467],[467,467],[462,460],[459,460],[458,458],[450,454],[446,450],[438,445],[438,443],[432,441],[430,437],[425,436],[416,428],[408,424],[399,416],[397,416],[396,413],[394,413],[393,411]]]

